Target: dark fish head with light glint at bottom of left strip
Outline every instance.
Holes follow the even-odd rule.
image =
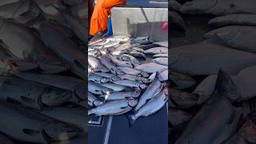
[[[47,122],[42,128],[43,137],[50,141],[64,141],[77,136],[82,130],[66,122]]]

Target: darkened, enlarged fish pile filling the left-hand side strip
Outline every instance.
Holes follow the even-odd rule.
[[[87,142],[86,5],[0,1],[0,143]]]

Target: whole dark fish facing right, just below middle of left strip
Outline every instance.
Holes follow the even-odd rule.
[[[34,109],[42,109],[46,106],[58,106],[63,102],[69,102],[72,93],[37,82],[30,82],[21,78],[1,77],[0,98],[14,99],[25,106]]]

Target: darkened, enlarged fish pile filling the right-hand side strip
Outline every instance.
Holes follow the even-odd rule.
[[[254,4],[193,0],[173,9],[210,14],[212,30],[202,42],[170,48],[171,143],[256,143]]]

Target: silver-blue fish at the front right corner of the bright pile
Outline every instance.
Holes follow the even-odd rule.
[[[132,121],[140,117],[147,117],[151,114],[155,114],[158,110],[161,110],[166,105],[168,100],[168,90],[165,88],[162,92],[154,98],[150,99],[142,108],[140,108],[135,114],[131,115]]]

